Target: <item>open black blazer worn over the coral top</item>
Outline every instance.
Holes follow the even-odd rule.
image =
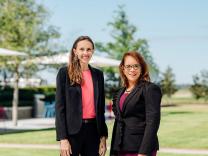
[[[94,101],[98,133],[107,136],[105,123],[105,93],[103,73],[89,66],[94,87]],[[56,78],[56,134],[57,140],[79,132],[82,125],[82,93],[78,84],[70,85],[67,67],[60,68]]]

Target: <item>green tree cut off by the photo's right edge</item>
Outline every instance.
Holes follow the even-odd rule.
[[[193,85],[190,90],[196,99],[208,100],[208,71],[204,70],[200,72],[200,75],[193,76]]]

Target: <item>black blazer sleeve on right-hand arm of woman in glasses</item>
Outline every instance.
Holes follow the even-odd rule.
[[[152,152],[154,140],[157,137],[157,131],[160,124],[160,103],[162,93],[160,88],[150,83],[144,89],[145,98],[145,116],[146,127],[142,144],[139,149],[140,154],[148,154]]]

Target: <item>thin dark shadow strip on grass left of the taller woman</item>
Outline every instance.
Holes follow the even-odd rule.
[[[55,128],[44,128],[44,129],[37,129],[37,130],[22,130],[22,129],[6,129],[6,128],[0,128],[0,135],[16,134],[16,133],[25,133],[25,132],[48,131],[48,130],[55,130]]]

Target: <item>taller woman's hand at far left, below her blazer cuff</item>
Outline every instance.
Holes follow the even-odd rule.
[[[61,156],[70,156],[72,154],[71,145],[69,143],[69,140],[64,139],[60,141],[60,152]]]

